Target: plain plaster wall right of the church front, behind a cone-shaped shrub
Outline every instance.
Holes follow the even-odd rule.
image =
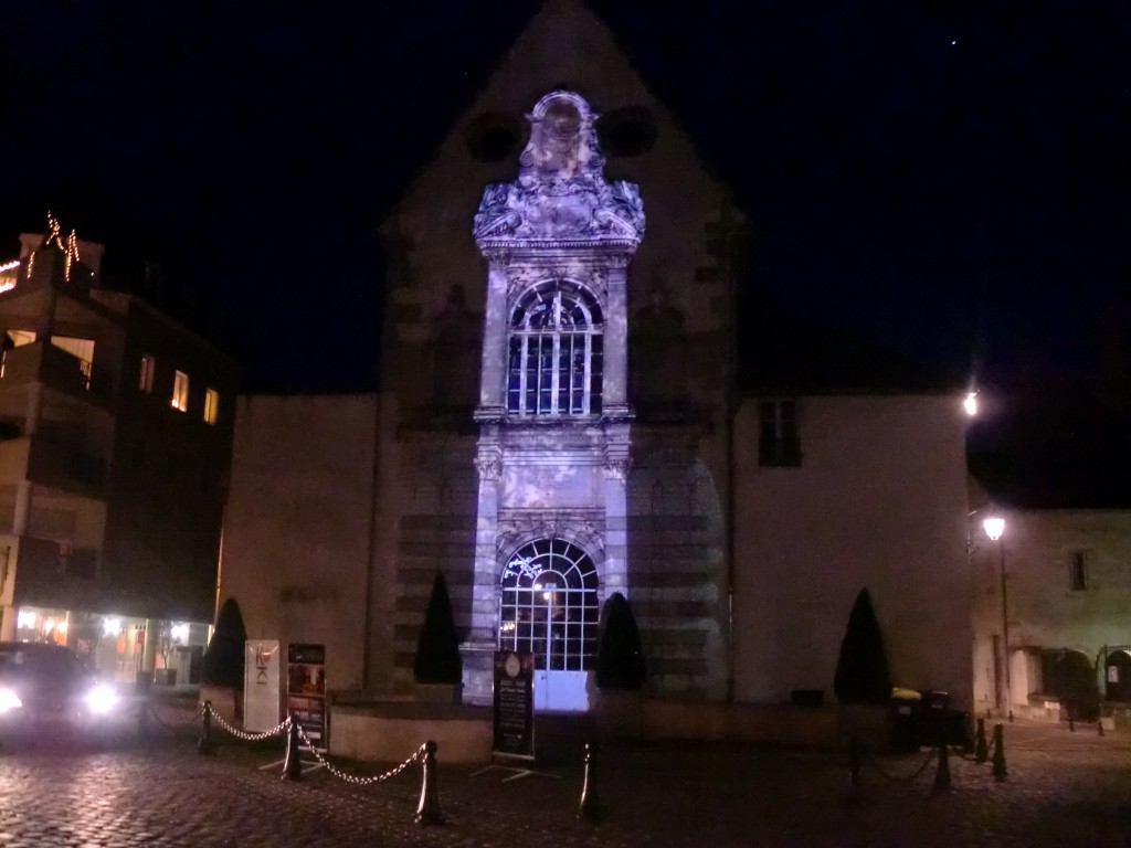
[[[736,695],[824,691],[866,587],[895,685],[970,706],[970,570],[959,399],[798,399],[800,468],[758,465],[757,400],[739,413]]]

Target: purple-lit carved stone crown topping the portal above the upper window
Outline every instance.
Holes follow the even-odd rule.
[[[487,185],[480,201],[473,232],[484,256],[503,246],[636,250],[645,228],[640,189],[605,181],[595,119],[572,92],[537,102],[527,115],[530,141],[518,159],[518,179]]]

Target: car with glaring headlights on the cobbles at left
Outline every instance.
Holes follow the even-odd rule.
[[[0,735],[95,732],[116,703],[114,690],[67,648],[0,642]]]

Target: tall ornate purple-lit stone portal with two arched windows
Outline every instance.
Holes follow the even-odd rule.
[[[625,272],[645,217],[637,185],[605,180],[585,99],[552,92],[527,119],[518,179],[486,188],[474,224],[489,270],[464,695],[490,701],[501,642],[559,675],[541,706],[585,709],[597,611],[629,589]]]

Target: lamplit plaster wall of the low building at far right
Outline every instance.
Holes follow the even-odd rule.
[[[993,703],[992,640],[1002,632],[1001,574],[1004,552],[1009,618],[1011,703],[1024,704],[1039,687],[1026,672],[1024,650],[1069,648],[1090,661],[1106,644],[1131,643],[1131,510],[999,510],[1005,519],[1000,542],[985,537],[975,520],[975,631],[978,654],[976,698]],[[1088,552],[1088,582],[1069,581],[1072,551]],[[1020,664],[1020,665],[1019,665]]]

